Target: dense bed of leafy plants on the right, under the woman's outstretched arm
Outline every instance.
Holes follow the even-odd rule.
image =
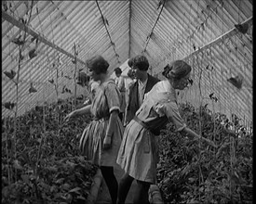
[[[172,123],[159,137],[157,183],[165,203],[252,203],[252,136],[233,115],[228,121],[207,107],[180,108],[196,133],[214,141],[209,147],[189,140]],[[235,126],[231,131],[230,126]]]

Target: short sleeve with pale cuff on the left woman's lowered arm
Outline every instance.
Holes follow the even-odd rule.
[[[107,97],[109,112],[111,113],[113,110],[120,112],[120,92],[115,83],[108,83],[105,87],[105,95]]]

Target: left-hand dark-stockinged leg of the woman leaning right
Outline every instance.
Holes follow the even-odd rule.
[[[124,204],[126,201],[126,198],[128,196],[128,190],[130,188],[130,185],[133,182],[133,178],[128,175],[128,173],[125,173],[122,178],[120,179],[119,186],[118,186],[118,199],[117,204]]]

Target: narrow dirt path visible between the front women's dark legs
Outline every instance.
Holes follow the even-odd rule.
[[[119,182],[123,173],[124,173],[124,171],[116,164],[115,165],[115,176],[116,176],[117,182]],[[126,200],[126,204],[132,203],[132,195],[133,195],[133,192],[135,189],[134,188],[135,185],[136,185],[136,182],[133,181],[133,183],[129,189],[129,192],[128,192],[128,198]],[[102,179],[101,189],[99,191],[98,198],[96,200],[96,204],[111,204],[111,203],[112,202],[111,202],[111,198],[110,198],[110,195],[108,192],[108,188],[107,188],[104,180]]]

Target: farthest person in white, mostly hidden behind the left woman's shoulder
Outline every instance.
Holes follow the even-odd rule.
[[[126,86],[125,86],[125,79],[123,76],[121,76],[122,70],[120,68],[115,68],[115,84],[117,85],[120,93],[121,93],[121,105],[120,105],[120,113],[119,117],[121,121],[123,121],[123,116],[126,109]]]

